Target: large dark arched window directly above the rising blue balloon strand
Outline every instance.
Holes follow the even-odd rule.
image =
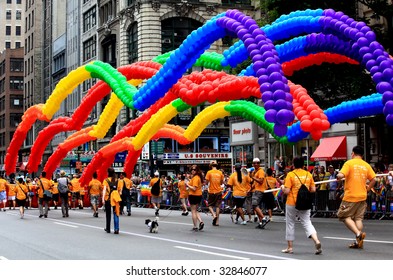
[[[177,49],[187,36],[202,26],[202,23],[186,17],[173,17],[161,22],[162,53]]]

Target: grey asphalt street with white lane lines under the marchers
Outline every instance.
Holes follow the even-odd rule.
[[[334,218],[312,218],[322,242],[322,255],[301,225],[296,228],[294,254],[281,253],[286,247],[285,221],[274,216],[266,229],[256,224],[237,225],[229,214],[220,226],[202,213],[205,228],[191,231],[191,215],[178,210],[160,210],[159,232],[149,233],[145,219],[154,210],[132,208],[132,216],[120,217],[120,234],[103,230],[104,212],[94,218],[88,208],[71,210],[62,218],[61,210],[51,209],[48,218],[38,218],[37,209],[0,212],[0,259],[3,260],[392,260],[392,220],[365,220],[367,233],[363,250],[349,249],[352,234]],[[113,226],[113,221],[112,221]],[[113,232],[113,227],[112,227]]]

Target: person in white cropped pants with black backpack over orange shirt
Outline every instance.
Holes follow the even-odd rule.
[[[288,246],[281,252],[292,254],[293,253],[293,241],[295,240],[295,224],[297,217],[302,224],[306,236],[311,238],[315,244],[315,254],[319,255],[322,253],[321,242],[318,239],[317,232],[311,223],[310,212],[308,210],[298,210],[295,208],[297,194],[300,186],[304,184],[310,192],[314,193],[315,183],[310,172],[303,169],[304,159],[302,157],[295,157],[293,159],[294,170],[289,172],[285,178],[285,183],[281,186],[281,189],[285,195],[287,195],[286,210],[285,210],[285,223],[286,223],[286,234],[285,239],[287,240]]]

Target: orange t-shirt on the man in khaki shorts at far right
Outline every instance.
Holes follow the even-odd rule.
[[[345,162],[340,172],[345,175],[343,200],[348,202],[366,200],[366,182],[375,178],[371,166],[362,159],[354,158]]]

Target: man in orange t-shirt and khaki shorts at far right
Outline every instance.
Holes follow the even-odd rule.
[[[344,197],[341,201],[337,217],[355,234],[356,240],[349,245],[352,249],[362,249],[366,233],[363,232],[363,218],[367,209],[367,192],[375,185],[375,172],[363,160],[364,149],[361,146],[352,148],[352,159],[346,161],[337,174],[337,180],[345,178]],[[367,184],[367,180],[369,184]]]

